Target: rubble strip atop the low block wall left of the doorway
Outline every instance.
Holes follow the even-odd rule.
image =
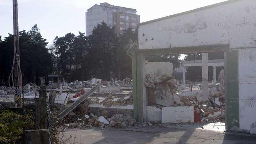
[[[115,105],[128,106],[133,104],[132,93],[130,93],[129,96],[122,98],[114,98],[111,94],[109,94],[105,99],[99,99],[98,97],[89,99],[90,103],[102,104],[106,107],[111,107]]]

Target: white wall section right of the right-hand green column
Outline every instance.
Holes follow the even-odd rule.
[[[256,48],[239,49],[240,129],[256,134]]]

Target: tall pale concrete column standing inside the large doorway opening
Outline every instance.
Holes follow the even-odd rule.
[[[202,89],[203,89],[202,101],[206,101],[209,98],[209,94],[208,94],[208,53],[202,53]]]

